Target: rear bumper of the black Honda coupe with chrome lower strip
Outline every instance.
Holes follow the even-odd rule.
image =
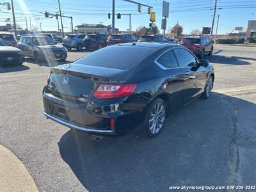
[[[111,113],[99,113],[103,111],[100,108],[108,106],[95,106],[90,102],[79,104],[77,102],[68,102],[55,97],[51,93],[43,93],[44,115],[70,129],[93,132],[104,135],[121,135],[131,132],[134,125],[140,122],[140,113],[129,111],[121,113],[114,111]],[[111,127],[111,121],[114,121],[114,127]]]

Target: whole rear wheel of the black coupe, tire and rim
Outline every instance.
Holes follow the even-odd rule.
[[[158,112],[157,112],[158,111]],[[147,108],[145,115],[145,133],[152,138],[163,129],[166,119],[166,105],[162,99],[154,100]]]

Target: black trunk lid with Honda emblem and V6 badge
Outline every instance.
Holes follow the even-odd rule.
[[[120,72],[122,70],[115,68],[61,65],[52,68],[48,89],[56,97],[76,102],[79,97],[90,98],[100,83],[111,81]]]

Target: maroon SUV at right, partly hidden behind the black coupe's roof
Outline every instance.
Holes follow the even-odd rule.
[[[187,47],[199,59],[202,59],[205,53],[208,54],[208,56],[212,55],[213,45],[211,41],[204,36],[188,36],[183,38],[179,44]]]

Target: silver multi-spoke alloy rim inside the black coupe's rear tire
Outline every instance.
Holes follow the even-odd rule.
[[[163,102],[154,104],[148,118],[148,128],[151,134],[157,134],[163,127],[165,119],[165,109]]]

